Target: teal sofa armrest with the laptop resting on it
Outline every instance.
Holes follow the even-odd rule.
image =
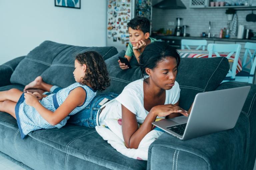
[[[186,141],[163,133],[149,147],[147,169],[253,169],[256,157],[256,85],[226,82],[216,90],[246,85],[250,85],[251,90],[234,128]]]

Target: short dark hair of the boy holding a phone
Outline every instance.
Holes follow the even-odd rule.
[[[150,21],[146,17],[134,17],[127,24],[127,28],[131,27],[133,30],[141,30],[144,34],[150,32]]]

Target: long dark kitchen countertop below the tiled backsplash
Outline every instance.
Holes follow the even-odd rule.
[[[177,37],[177,36],[165,36],[165,35],[152,35],[152,38],[156,39],[193,39],[193,40],[209,40],[209,41],[230,41],[230,42],[256,42],[256,40],[248,40],[248,39],[220,39],[220,38],[207,38],[207,37]]]

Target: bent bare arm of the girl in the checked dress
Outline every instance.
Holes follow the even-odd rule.
[[[34,107],[37,112],[52,126],[60,123],[77,106],[81,106],[86,99],[86,92],[82,87],[72,90],[62,105],[55,112],[49,111],[41,105],[37,98],[31,93],[25,93],[26,103]]]

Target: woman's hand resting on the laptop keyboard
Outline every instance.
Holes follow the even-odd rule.
[[[175,106],[173,104],[167,105],[158,105],[151,109],[153,113],[158,117],[165,117],[173,113],[181,113],[184,116],[188,117],[188,112],[182,109],[179,106]]]

